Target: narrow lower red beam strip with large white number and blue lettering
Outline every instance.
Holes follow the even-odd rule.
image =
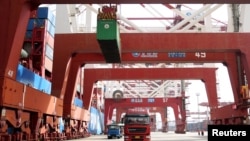
[[[207,52],[207,51],[169,51],[169,52],[134,52],[122,53],[122,63],[226,63],[235,61],[235,52]],[[78,53],[74,62],[92,64],[105,63],[101,53]],[[55,64],[56,65],[56,64]]]

